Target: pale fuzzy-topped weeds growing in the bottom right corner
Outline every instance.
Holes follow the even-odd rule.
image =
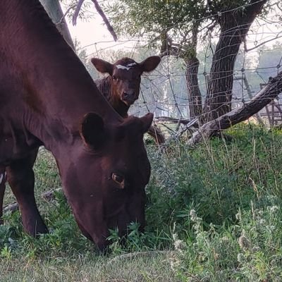
[[[191,210],[194,239],[174,235],[172,266],[181,281],[281,281],[281,209],[250,208],[239,212],[238,223],[228,228],[203,228]]]

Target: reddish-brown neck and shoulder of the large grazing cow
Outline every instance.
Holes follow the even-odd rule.
[[[20,122],[32,135],[51,149],[58,140],[73,142],[62,136],[78,135],[87,112],[118,121],[39,1],[3,0],[1,9],[0,56],[6,61],[0,71],[10,70],[6,92],[15,92]]]

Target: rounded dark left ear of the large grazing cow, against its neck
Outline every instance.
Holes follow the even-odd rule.
[[[88,113],[80,123],[80,137],[85,145],[99,149],[105,139],[104,121],[101,116]]]

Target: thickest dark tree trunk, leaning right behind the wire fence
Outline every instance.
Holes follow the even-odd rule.
[[[233,68],[236,56],[250,25],[261,13],[265,3],[266,0],[252,0],[250,6],[242,10],[223,11],[217,19],[221,27],[221,34],[212,59],[202,123],[231,111]]]

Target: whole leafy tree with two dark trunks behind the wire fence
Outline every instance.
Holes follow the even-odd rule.
[[[257,16],[265,16],[271,0],[116,0],[104,4],[111,24],[119,35],[143,36],[160,54],[175,55],[186,63],[190,113],[207,121],[231,110],[233,68],[240,45]],[[199,42],[219,32],[202,96],[197,74]]]

